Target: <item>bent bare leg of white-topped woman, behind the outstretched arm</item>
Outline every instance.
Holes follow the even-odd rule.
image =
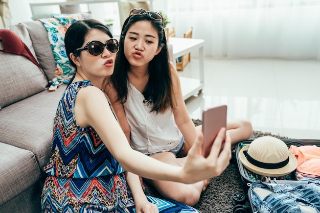
[[[151,157],[173,165],[183,165],[185,162],[184,158],[176,158],[171,152],[157,153]],[[195,205],[199,201],[203,188],[209,184],[208,180],[193,184],[162,180],[145,180],[151,183],[164,198],[170,198],[190,206]]]

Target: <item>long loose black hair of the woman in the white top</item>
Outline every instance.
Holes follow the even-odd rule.
[[[125,20],[119,41],[120,49],[115,61],[115,71],[110,76],[109,83],[111,82],[117,90],[118,100],[125,103],[128,96],[129,80],[127,73],[130,69],[130,64],[124,55],[124,39],[130,26],[133,25],[133,23],[142,20],[150,21],[153,28],[158,32],[158,46],[162,46],[162,50],[149,62],[149,79],[142,93],[146,100],[152,102],[151,111],[157,113],[165,112],[170,107],[173,107],[173,100],[167,40],[162,20],[154,20],[149,17],[148,13],[143,15],[131,15]]]

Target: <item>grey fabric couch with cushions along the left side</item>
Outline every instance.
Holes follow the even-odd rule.
[[[56,65],[40,21],[7,29],[29,47],[43,70],[25,56],[0,52],[0,212],[36,213],[41,211],[53,119],[66,85],[48,91]]]

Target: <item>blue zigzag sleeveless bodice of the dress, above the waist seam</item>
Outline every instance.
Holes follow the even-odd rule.
[[[48,175],[91,178],[124,172],[92,127],[76,125],[75,97],[86,86],[92,84],[89,81],[76,82],[62,94],[54,120],[51,158],[44,168]]]

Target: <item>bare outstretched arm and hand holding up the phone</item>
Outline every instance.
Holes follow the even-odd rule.
[[[219,132],[207,158],[201,154],[202,137],[200,135],[190,149],[187,163],[183,168],[158,161],[132,150],[109,107],[105,94],[94,86],[80,89],[75,110],[77,124],[81,127],[93,127],[124,170],[148,179],[182,183],[198,182],[220,175],[231,158],[230,138],[227,137],[222,145],[225,129]],[[222,146],[221,153],[217,153],[217,150],[221,150]]]

